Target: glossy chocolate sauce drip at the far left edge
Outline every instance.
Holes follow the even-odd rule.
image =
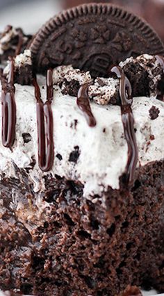
[[[2,117],[2,143],[4,147],[11,148],[15,140],[16,105],[14,86],[14,60],[10,58],[8,81],[1,78],[1,117]]]

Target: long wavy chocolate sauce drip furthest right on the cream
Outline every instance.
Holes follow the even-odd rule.
[[[113,67],[111,72],[114,72],[120,79],[119,92],[121,99],[122,123],[124,126],[124,135],[128,144],[128,162],[126,165],[125,183],[127,186],[133,186],[134,174],[138,163],[138,147],[134,131],[134,118],[131,110],[131,83],[120,67]]]

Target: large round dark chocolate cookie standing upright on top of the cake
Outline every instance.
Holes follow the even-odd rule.
[[[78,6],[53,17],[35,36],[31,51],[39,72],[58,65],[107,76],[110,65],[140,54],[164,55],[149,25],[110,4]]]

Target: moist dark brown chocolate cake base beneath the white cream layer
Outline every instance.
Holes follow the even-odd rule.
[[[105,206],[58,176],[36,195],[27,172],[15,170],[17,179],[2,176],[0,185],[1,289],[114,296],[133,284],[164,292],[164,161],[140,168],[131,192],[109,188]]]

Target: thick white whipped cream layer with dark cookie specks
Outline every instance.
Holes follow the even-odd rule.
[[[43,101],[46,99],[46,81],[38,76]],[[16,139],[12,151],[0,141],[0,171],[6,176],[15,176],[13,162],[24,169],[34,183],[34,190],[44,190],[45,174],[58,174],[67,179],[81,181],[85,197],[101,194],[108,186],[120,188],[119,178],[128,160],[128,147],[124,138],[120,106],[99,106],[91,102],[97,125],[88,126],[76,98],[62,94],[54,85],[54,145],[55,159],[51,172],[42,172],[38,167],[38,134],[33,86],[15,84],[17,106]],[[1,95],[1,91],[0,91]],[[151,120],[149,110],[155,106],[160,111],[156,120]],[[156,97],[133,99],[139,165],[163,158],[164,151],[164,103]],[[1,108],[0,108],[1,126]],[[79,157],[72,159],[74,153]],[[31,166],[35,159],[34,167]]]

